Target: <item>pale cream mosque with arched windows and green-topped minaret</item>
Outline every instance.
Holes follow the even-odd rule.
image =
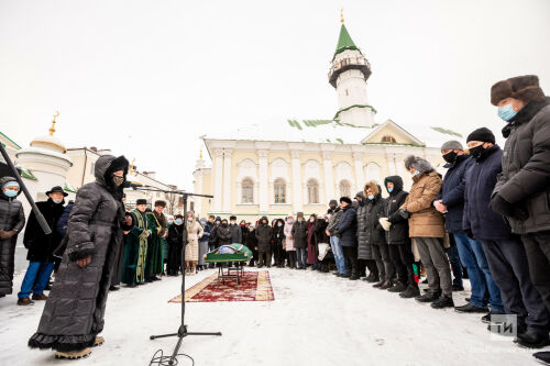
[[[403,165],[407,155],[439,167],[441,144],[462,136],[440,127],[406,129],[392,120],[376,123],[376,109],[367,98],[370,76],[371,65],[342,20],[328,74],[338,98],[334,117],[252,124],[201,137],[211,167],[201,156],[194,189],[213,199],[196,199],[195,210],[251,220],[317,213],[331,199],[353,197],[369,180],[383,184],[384,177],[400,175],[410,187]]]

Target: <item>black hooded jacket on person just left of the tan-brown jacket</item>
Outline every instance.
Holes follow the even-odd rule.
[[[384,179],[384,187],[387,190],[387,182],[394,184],[394,190],[386,199],[383,215],[392,223],[389,231],[386,231],[386,243],[409,244],[409,221],[399,214],[399,208],[405,203],[408,192],[403,190],[403,179],[399,176],[392,176]]]

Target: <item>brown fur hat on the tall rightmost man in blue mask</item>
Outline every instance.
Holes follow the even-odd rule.
[[[498,106],[498,102],[506,98],[519,99],[525,103],[543,101],[544,92],[540,89],[539,77],[536,75],[516,76],[498,81],[491,88],[493,106]]]

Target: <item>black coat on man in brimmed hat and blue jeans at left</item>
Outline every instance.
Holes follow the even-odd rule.
[[[44,233],[34,211],[31,211],[23,236],[23,244],[29,249],[26,259],[42,263],[54,262],[53,253],[63,239],[57,230],[55,230],[55,226],[65,211],[65,207],[63,203],[55,203],[51,198],[47,201],[36,202],[36,207],[44,215],[44,219],[46,219],[52,233]]]

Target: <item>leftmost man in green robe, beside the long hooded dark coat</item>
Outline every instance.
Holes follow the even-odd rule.
[[[127,236],[122,270],[122,284],[127,284],[128,287],[135,287],[135,285],[143,285],[145,282],[147,236],[151,234],[147,228],[146,208],[147,200],[139,199],[135,210],[130,212],[132,217],[132,230]]]

